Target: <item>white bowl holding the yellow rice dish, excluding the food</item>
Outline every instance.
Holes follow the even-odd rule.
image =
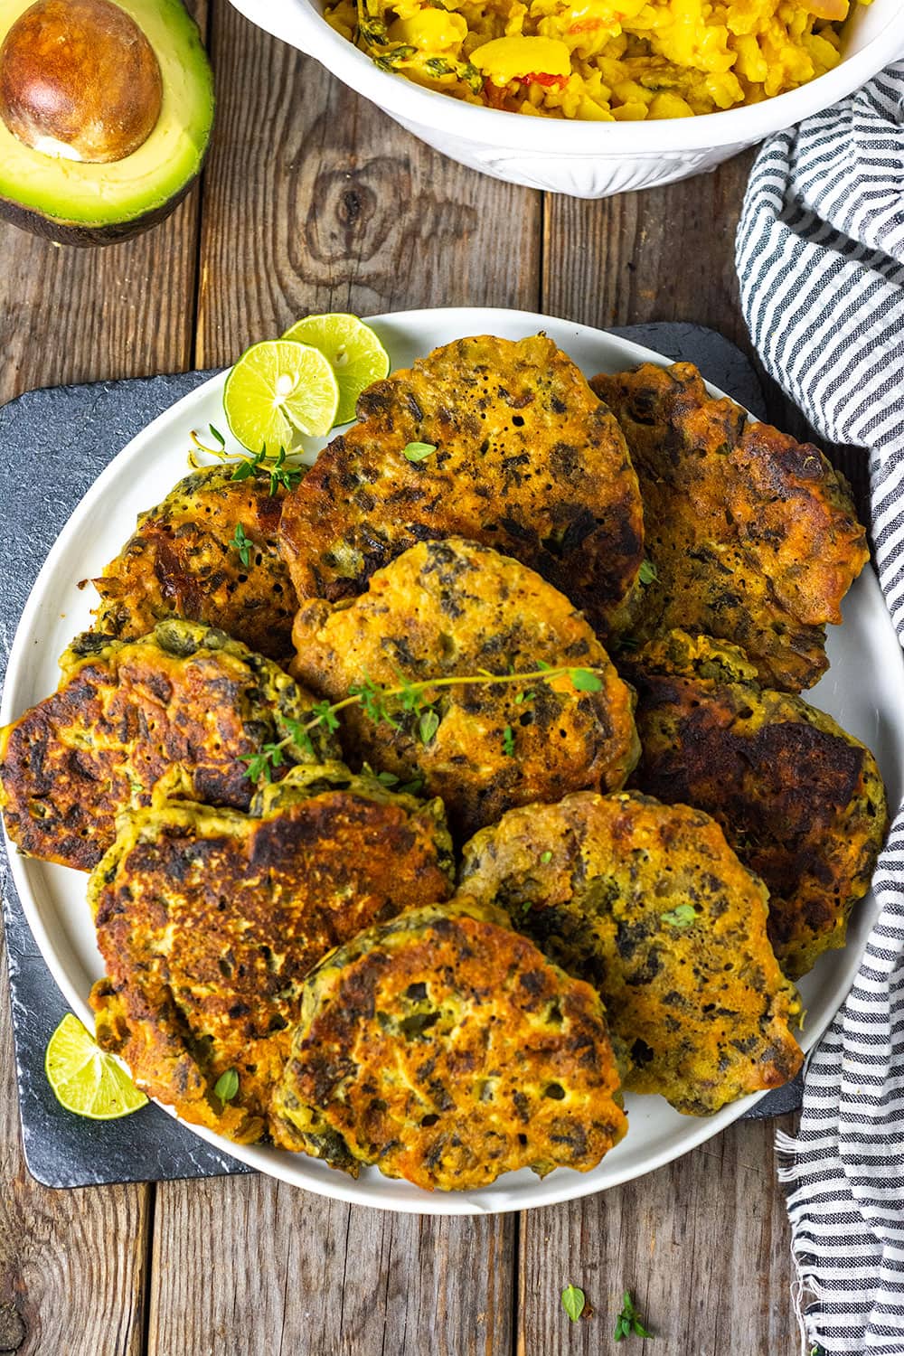
[[[422,141],[461,164],[529,188],[609,198],[714,170],[744,146],[828,108],[904,56],[901,0],[857,5],[844,57],[800,89],[748,108],[656,122],[567,122],[481,108],[379,71],[324,23],[317,0],[232,0],[247,19],[316,57]]]

